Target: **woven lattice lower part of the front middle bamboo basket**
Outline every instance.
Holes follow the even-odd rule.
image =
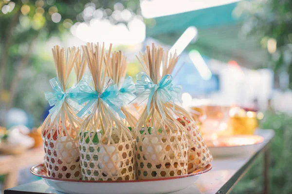
[[[86,136],[86,133],[84,133]],[[92,132],[90,137],[80,139],[80,155],[83,180],[132,180],[134,171],[134,142],[126,141],[117,144],[96,144]],[[93,137],[93,138],[91,138]]]

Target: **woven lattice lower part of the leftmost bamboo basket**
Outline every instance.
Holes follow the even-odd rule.
[[[46,121],[44,125],[46,125]],[[76,134],[70,125],[45,127],[43,131],[45,164],[49,177],[81,179],[80,157]],[[68,131],[70,131],[68,133]],[[54,135],[52,135],[54,134]],[[71,135],[70,135],[71,134]]]

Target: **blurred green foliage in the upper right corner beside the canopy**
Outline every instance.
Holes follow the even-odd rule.
[[[292,87],[292,0],[245,0],[237,11],[245,22],[242,32],[256,36],[258,43],[270,53],[263,66],[290,75]]]

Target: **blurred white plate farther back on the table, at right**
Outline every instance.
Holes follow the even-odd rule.
[[[206,142],[206,144],[214,157],[226,157],[250,153],[263,141],[264,138],[258,135],[234,135],[219,137],[216,143]]]

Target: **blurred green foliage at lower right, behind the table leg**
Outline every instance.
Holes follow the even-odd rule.
[[[286,113],[268,111],[260,122],[262,129],[274,129],[271,144],[269,187],[270,194],[292,193],[292,117]],[[260,194],[263,191],[263,156],[237,183],[232,194]]]

